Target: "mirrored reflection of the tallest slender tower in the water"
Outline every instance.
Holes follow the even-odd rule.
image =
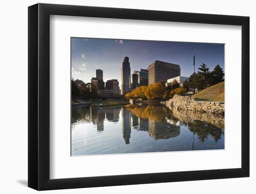
[[[122,134],[125,144],[130,143],[131,137],[131,126],[130,126],[130,111],[128,111],[125,107],[121,108],[121,116],[122,116]]]

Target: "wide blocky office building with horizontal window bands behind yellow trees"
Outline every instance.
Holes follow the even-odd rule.
[[[148,67],[148,85],[164,81],[181,75],[179,65],[156,60]]]

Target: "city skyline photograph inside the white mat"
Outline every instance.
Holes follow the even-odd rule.
[[[71,37],[71,156],[224,149],[224,46]]]

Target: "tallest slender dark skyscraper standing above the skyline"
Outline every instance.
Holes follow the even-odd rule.
[[[125,57],[121,68],[121,94],[125,95],[130,91],[129,89],[129,75],[131,74],[129,57]]]

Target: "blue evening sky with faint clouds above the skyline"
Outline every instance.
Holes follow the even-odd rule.
[[[74,80],[91,82],[96,69],[103,70],[103,80],[117,79],[121,85],[121,66],[129,57],[131,73],[146,69],[155,60],[178,64],[181,76],[189,77],[205,63],[209,70],[219,64],[224,70],[224,44],[150,40],[71,38],[71,68]]]

